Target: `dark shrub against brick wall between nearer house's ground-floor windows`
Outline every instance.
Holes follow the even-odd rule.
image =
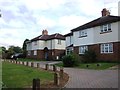
[[[94,63],[97,61],[96,59],[96,53],[92,50],[88,50],[88,51],[85,51],[84,55],[83,55],[83,60],[82,62],[84,63]]]

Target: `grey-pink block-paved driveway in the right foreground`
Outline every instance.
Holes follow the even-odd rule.
[[[65,68],[70,80],[66,88],[118,88],[118,70]]]

